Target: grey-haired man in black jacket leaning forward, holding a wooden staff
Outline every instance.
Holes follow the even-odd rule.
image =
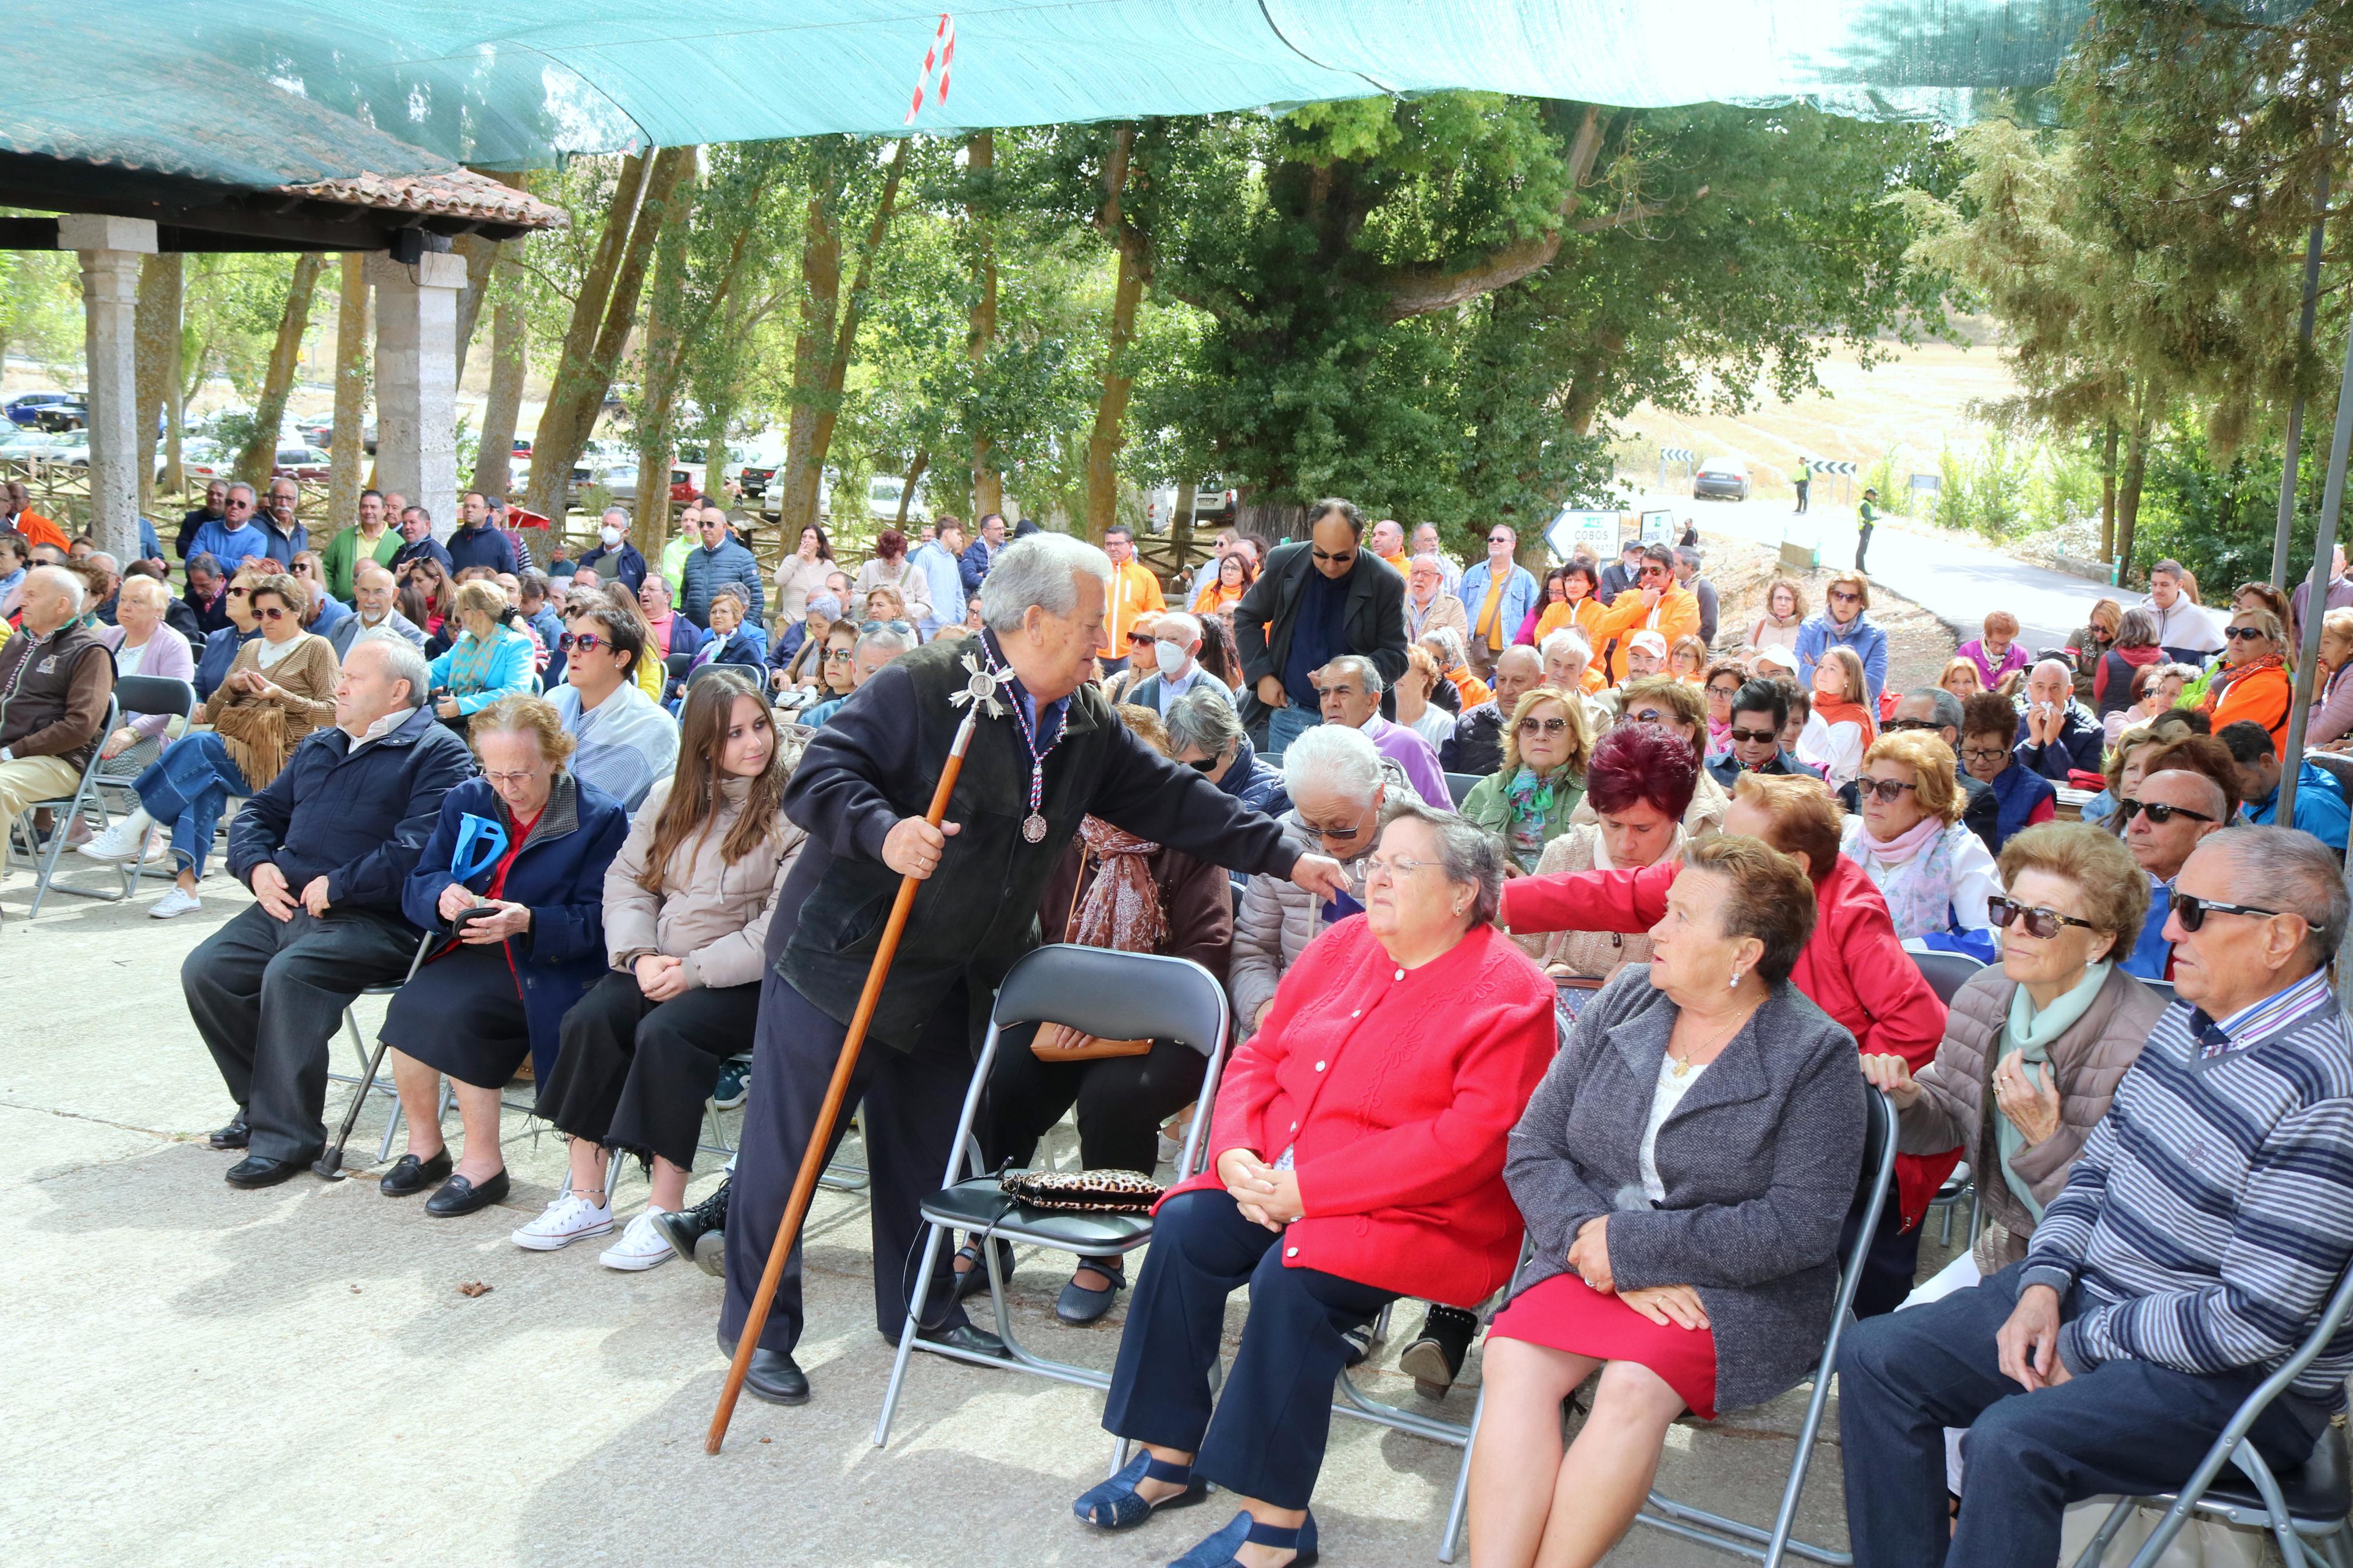
[[[1386,567],[1374,567],[1386,571]],[[1395,574],[1391,574],[1393,578]],[[1087,816],[1242,872],[1289,877],[1322,898],[1344,886],[1322,856],[1297,853],[1273,818],[1139,741],[1089,684],[1104,639],[1111,559],[1061,534],[1038,534],[991,562],[981,607],[991,630],[901,654],[809,741],[784,811],[807,827],[769,922],[769,973],[751,1098],[727,1206],[727,1300],[720,1347],[734,1352],[784,1222],[793,1175],[873,964],[901,877],[922,879],[882,987],[849,1105],[861,1105],[875,1258],[875,1328],[896,1340],[920,1255],[920,1204],[948,1164],[955,1121],[991,994],[1038,945],[1038,898]],[[951,696],[976,656],[1009,677],[1000,717],[981,717],[948,797],[925,813],[962,710]],[[835,1140],[840,1126],[833,1128]],[[995,1354],[995,1335],[955,1305],[939,1269],[920,1338]],[[746,1387],[800,1403],[809,1382],[800,1340],[800,1248],[786,1265]]]

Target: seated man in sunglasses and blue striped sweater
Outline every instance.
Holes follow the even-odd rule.
[[[2026,1260],[1840,1347],[1857,1563],[2057,1561],[2068,1502],[2179,1488],[2297,1352],[2353,1262],[2353,1034],[2327,978],[2346,912],[2306,832],[2228,827],[2191,853],[2165,922],[2181,1001]],[[2348,1373],[2339,1335],[2254,1420],[2273,1469],[2311,1458]],[[1958,1521],[1944,1427],[1967,1427]]]

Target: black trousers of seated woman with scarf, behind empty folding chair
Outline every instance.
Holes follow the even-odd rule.
[[[1200,1095],[1209,1058],[1174,1039],[1155,1039],[1144,1056],[1040,1063],[1028,1048],[1033,1034],[1035,1025],[1021,1025],[998,1039],[981,1133],[988,1168],[1007,1159],[1031,1164],[1045,1131],[1075,1105],[1082,1168],[1151,1175],[1160,1164],[1160,1124]]]

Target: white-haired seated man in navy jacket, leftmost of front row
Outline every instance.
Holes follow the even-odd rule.
[[[311,731],[228,827],[228,870],[256,903],[205,938],[179,980],[238,1103],[212,1135],[216,1150],[247,1150],[231,1187],[273,1187],[318,1157],[344,1009],[416,954],[400,886],[442,795],[473,773],[466,743],[424,701],[424,654],[362,637],[334,689],[334,724]]]

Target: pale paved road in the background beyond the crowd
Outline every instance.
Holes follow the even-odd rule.
[[[1635,505],[1671,508],[1678,517],[1694,520],[1704,536],[1741,534],[1760,543],[1781,543],[1784,536],[1807,538],[1795,529],[1812,529],[1824,567],[1854,562],[1854,508],[1847,505],[1817,505],[1805,517],[1793,517],[1786,501],[1645,496]],[[1962,534],[1925,527],[1913,531],[1908,524],[1880,524],[1871,536],[1866,564],[1873,583],[1885,583],[1948,621],[1962,642],[1977,637],[1988,614],[2007,609],[2019,618],[2028,649],[2054,649],[2082,625],[2094,599],[2137,602],[2137,595],[2118,595],[2101,583],[2028,567]]]

